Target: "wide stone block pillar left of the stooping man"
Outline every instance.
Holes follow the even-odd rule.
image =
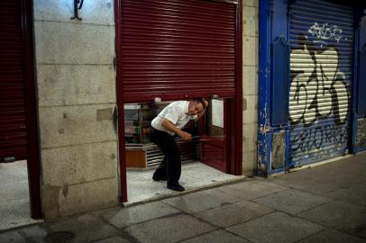
[[[33,2],[44,216],[116,205],[114,2]]]

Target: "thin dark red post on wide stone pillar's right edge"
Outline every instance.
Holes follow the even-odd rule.
[[[120,170],[121,202],[127,202],[127,174],[124,144],[124,87],[122,78],[122,47],[121,42],[121,13],[122,1],[114,0],[114,22],[115,22],[115,71],[116,71],[116,94],[118,112],[118,159]]]

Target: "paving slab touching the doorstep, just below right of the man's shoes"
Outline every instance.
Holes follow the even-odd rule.
[[[222,193],[217,188],[215,188],[207,191],[185,194],[164,200],[162,202],[166,202],[181,211],[195,213],[199,211],[206,211],[221,206],[225,203],[237,201],[239,201],[239,198]]]

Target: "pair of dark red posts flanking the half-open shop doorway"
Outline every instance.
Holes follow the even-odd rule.
[[[116,96],[117,96],[117,112],[118,112],[118,154],[119,154],[119,169],[120,169],[120,187],[121,187],[121,202],[127,202],[127,175],[125,161],[125,143],[124,143],[124,87],[122,77],[122,47],[119,43],[122,40],[121,34],[121,13],[122,1],[114,0],[114,22],[115,22],[115,65],[116,65]],[[215,2],[226,2],[225,0],[215,0]],[[231,111],[231,130],[235,130],[234,136],[231,137],[230,168],[233,175],[242,175],[242,0],[238,0],[236,4],[236,89]],[[235,115],[237,117],[235,117]]]

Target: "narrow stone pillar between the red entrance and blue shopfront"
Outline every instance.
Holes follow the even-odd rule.
[[[242,0],[242,171],[257,167],[259,0]]]

